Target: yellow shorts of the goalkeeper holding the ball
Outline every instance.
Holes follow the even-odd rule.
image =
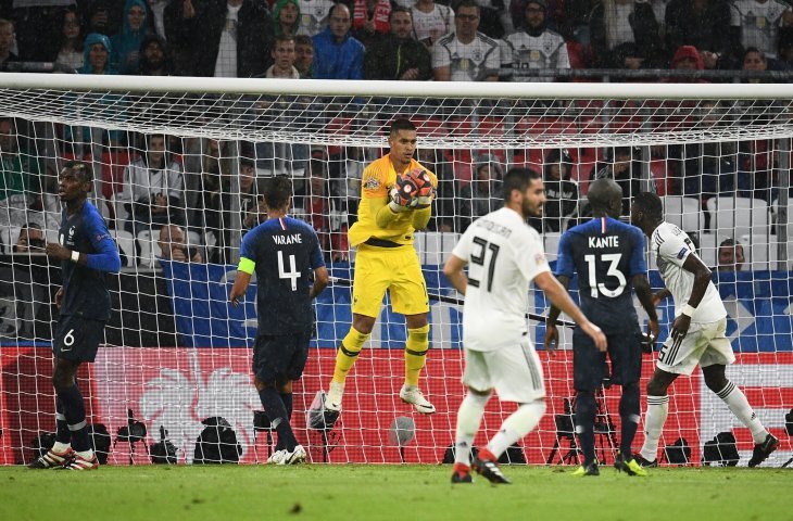
[[[361,244],[355,256],[352,313],[377,317],[386,290],[391,294],[391,306],[395,313],[429,313],[427,284],[416,250],[412,246],[389,249]]]

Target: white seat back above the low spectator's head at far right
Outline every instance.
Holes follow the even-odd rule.
[[[761,199],[710,198],[710,231],[719,237],[741,237],[768,229],[768,203]]]

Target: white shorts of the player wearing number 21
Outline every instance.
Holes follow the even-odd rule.
[[[542,365],[528,335],[494,351],[465,350],[463,383],[475,391],[495,389],[504,402],[528,404],[545,396]]]

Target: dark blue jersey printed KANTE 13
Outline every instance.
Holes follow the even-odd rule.
[[[635,226],[599,217],[562,236],[556,275],[571,279],[578,272],[581,310],[601,328],[635,325],[630,280],[646,271],[644,233]]]

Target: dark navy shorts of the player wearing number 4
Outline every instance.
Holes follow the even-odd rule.
[[[260,334],[253,346],[253,373],[264,383],[298,380],[309,359],[311,332],[270,336]]]

